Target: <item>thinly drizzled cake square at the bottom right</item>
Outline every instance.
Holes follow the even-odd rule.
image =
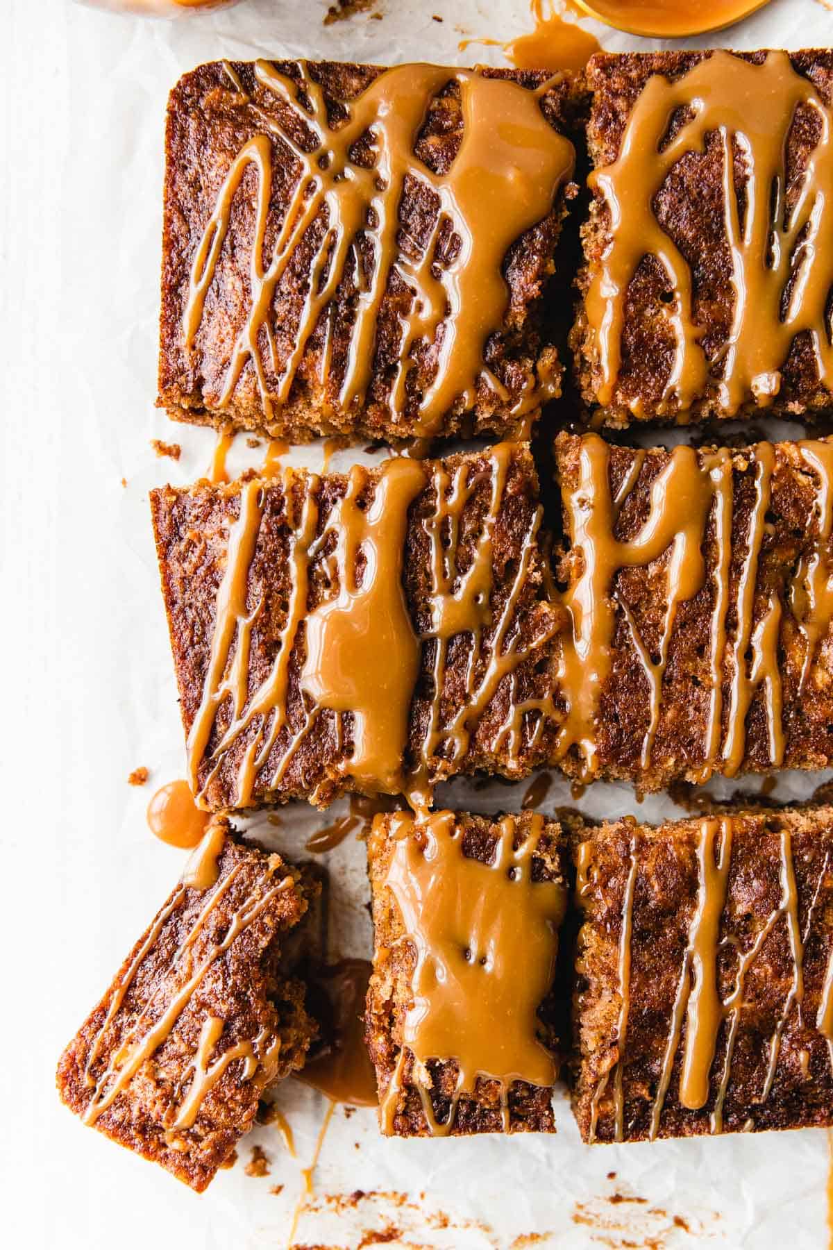
[[[583,1140],[833,1124],[833,809],[573,832]]]

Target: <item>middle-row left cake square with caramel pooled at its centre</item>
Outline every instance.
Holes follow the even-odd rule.
[[[425,801],[553,741],[556,636],[528,448],[151,492],[194,792]]]

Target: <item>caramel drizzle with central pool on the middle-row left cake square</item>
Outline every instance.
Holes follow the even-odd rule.
[[[189,732],[189,770],[194,791],[204,799],[222,766],[226,752],[247,735],[237,769],[235,805],[247,806],[259,774],[277,752],[269,789],[276,789],[295,751],[317,718],[335,716],[336,741],[341,742],[342,718],[353,719],[353,752],[343,761],[343,772],[355,786],[367,791],[408,792],[415,804],[430,801],[428,774],[442,754],[452,769],[468,750],[473,726],[483,716],[505,679],[515,681],[518,666],[552,636],[543,631],[528,642],[517,636],[517,609],[536,552],[541,525],[538,508],[522,542],[521,558],[500,614],[492,605],[492,539],[506,492],[513,455],[511,444],[490,449],[491,495],[473,559],[465,572],[457,568],[460,520],[482,475],[463,461],[450,475],[442,462],[431,470],[406,458],[385,462],[376,481],[372,502],[363,504],[370,482],[367,470],[356,465],[347,490],[333,505],[322,532],[316,502],[318,479],[305,480],[301,515],[296,521],[292,472],[283,480],[290,552],[287,568],[291,589],[277,652],[266,680],[250,690],[251,636],[261,602],[250,609],[250,569],[264,511],[264,484],[241,485],[240,514],[229,535],[224,578],[217,591],[211,654],[202,699]],[[431,475],[430,475],[431,474]],[[430,488],[436,509],[420,524],[426,532],[431,560],[431,625],[417,638],[402,589],[408,509]],[[446,538],[451,541],[446,545]],[[330,598],[307,611],[310,570],[318,556],[325,559]],[[356,580],[358,559],[363,561]],[[442,700],[451,640],[471,635],[466,669],[466,699],[457,712],[443,721]],[[311,702],[300,728],[287,724],[290,660],[303,639],[306,659],[301,689]],[[433,690],[421,758],[410,774],[403,769],[411,699],[417,685],[421,645],[433,645],[431,675]],[[545,718],[553,714],[551,700],[516,701],[515,685],[505,724],[495,735],[493,750],[506,744],[510,769],[528,738],[540,736]],[[209,756],[211,768],[200,788],[199,770],[206,758],[212,728],[220,709],[230,709],[230,722]],[[527,732],[527,718],[537,725]]]

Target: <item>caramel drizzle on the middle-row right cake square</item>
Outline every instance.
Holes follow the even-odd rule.
[[[831,564],[831,524],[833,500],[833,448],[821,441],[801,444],[802,456],[817,480],[818,525],[812,548],[802,560],[788,591],[806,639],[806,680],[818,642],[827,635],[833,616],[833,566]],[[743,765],[746,721],[758,690],[763,690],[769,732],[769,760],[783,762],[783,694],[778,664],[782,605],[773,592],[758,621],[756,589],[758,564],[772,492],[774,449],[761,442],[749,452],[754,459],[756,499],[746,535],[744,555],[734,595],[731,594],[733,466],[731,454],[722,449],[698,454],[688,446],[676,448],[662,471],[653,479],[648,516],[633,539],[618,540],[616,524],[624,501],[639,478],[643,452],[634,456],[629,472],[616,499],[609,485],[609,448],[598,435],[581,440],[577,486],[564,490],[567,528],[573,559],[579,572],[571,580],[563,604],[572,619],[572,630],[562,640],[558,684],[567,705],[562,720],[556,759],[571,749],[578,750],[584,780],[598,771],[597,718],[604,682],[611,675],[611,655],[617,611],[621,611],[644,672],[649,691],[648,728],[642,745],[641,765],[647,769],[662,710],[662,684],[678,608],[706,584],[703,546],[709,518],[713,519],[714,566],[711,571],[711,690],[703,740],[703,766],[699,780],[716,770],[734,776]],[[667,600],[659,642],[651,655],[637,630],[627,604],[618,598],[614,580],[622,569],[647,568],[668,552],[664,566]],[[737,620],[731,639],[727,615],[733,608]],[[727,646],[728,642],[728,646]],[[728,652],[728,654],[727,654]],[[747,656],[751,654],[751,660]],[[723,708],[724,666],[728,669],[728,700]]]

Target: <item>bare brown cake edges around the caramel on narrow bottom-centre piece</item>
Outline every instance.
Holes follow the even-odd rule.
[[[515,846],[517,848],[530,836],[535,814],[525,811],[516,819]],[[456,820],[463,826],[462,854],[481,864],[492,862],[500,836],[498,822],[470,814],[460,814]],[[391,818],[386,818],[386,824],[390,830]],[[376,1069],[380,1102],[393,1078],[402,1049],[405,1016],[413,1004],[411,981],[416,966],[413,944],[407,939],[400,910],[391,890],[385,885],[392,852],[393,841],[390,832],[385,838],[371,838],[368,872],[373,911],[373,972],[365,1010],[365,1040]],[[547,821],[538,838],[532,879],[566,881],[566,849],[557,821]],[[558,1049],[555,992],[541,1005],[538,1015],[540,1038],[555,1052]],[[445,1122],[455,1096],[458,1066],[452,1059],[431,1060],[427,1068],[432,1080],[428,1096],[433,1115],[438,1122]],[[508,1109],[511,1132],[555,1132],[552,1088],[515,1081],[508,1088]],[[410,1051],[402,1070],[392,1131],[401,1138],[432,1135],[423,1111],[422,1096],[415,1081],[413,1055]],[[503,1131],[501,1082],[478,1078],[473,1096],[463,1094],[457,1101],[451,1135],[468,1136],[475,1132],[501,1131]]]

